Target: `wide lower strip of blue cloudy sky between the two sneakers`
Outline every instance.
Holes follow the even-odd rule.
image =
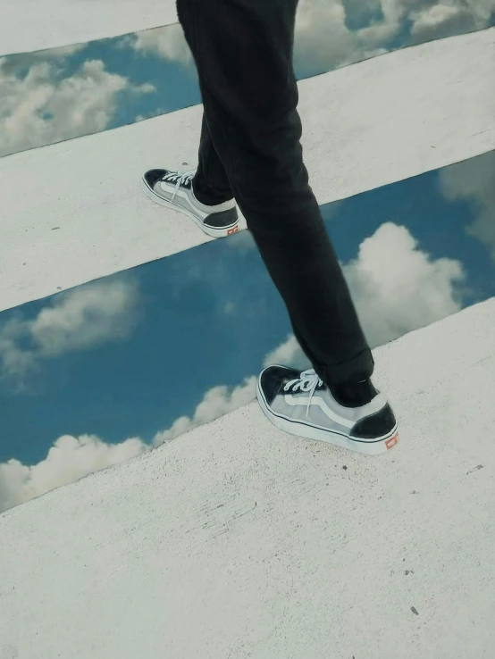
[[[373,347],[495,296],[494,172],[491,152],[323,206]],[[35,473],[244,405],[273,362],[306,365],[248,231],[0,313],[0,510]]]

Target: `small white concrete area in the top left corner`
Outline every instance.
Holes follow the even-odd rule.
[[[175,0],[0,0],[0,56],[176,22]]]

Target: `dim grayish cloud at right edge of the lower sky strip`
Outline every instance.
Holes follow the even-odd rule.
[[[475,204],[476,216],[467,232],[488,246],[495,261],[495,152],[440,171],[440,190],[450,201]]]

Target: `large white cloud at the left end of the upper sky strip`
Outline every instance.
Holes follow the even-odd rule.
[[[104,130],[124,89],[139,94],[155,89],[132,86],[105,71],[100,60],[83,63],[70,78],[60,76],[59,63],[36,62],[20,78],[7,58],[0,58],[0,88],[0,155]]]

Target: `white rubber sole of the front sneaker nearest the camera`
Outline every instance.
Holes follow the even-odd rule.
[[[283,416],[278,416],[267,405],[259,385],[259,380],[256,385],[256,396],[261,409],[268,419],[272,421],[273,425],[280,430],[284,430],[284,432],[289,432],[290,435],[296,435],[297,437],[306,439],[316,439],[326,444],[341,446],[342,448],[348,448],[350,451],[365,455],[386,453],[399,441],[398,424],[396,424],[394,430],[381,438],[357,439],[351,438],[348,435],[341,435],[338,432],[331,432],[331,430],[321,430],[314,426],[309,426],[302,421],[292,421]]]

